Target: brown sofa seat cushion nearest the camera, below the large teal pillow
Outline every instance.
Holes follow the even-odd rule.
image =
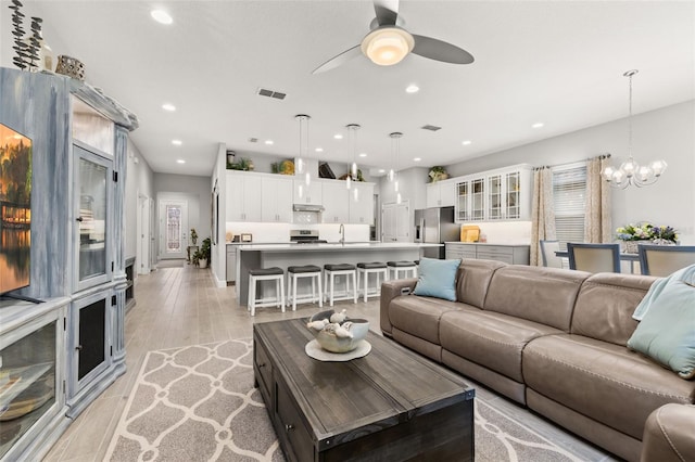
[[[627,347],[582,335],[536,338],[522,364],[530,388],[636,439],[652,411],[695,400],[694,382]]]

